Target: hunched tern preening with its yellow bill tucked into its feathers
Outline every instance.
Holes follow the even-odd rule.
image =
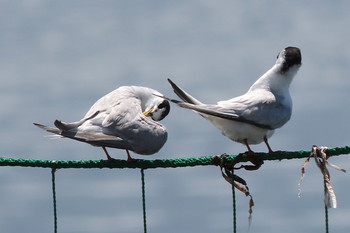
[[[170,111],[169,102],[156,90],[140,86],[122,86],[100,98],[77,122],[54,122],[57,128],[34,125],[61,137],[102,147],[124,149],[150,155],[158,152],[167,140],[165,126],[157,121]]]

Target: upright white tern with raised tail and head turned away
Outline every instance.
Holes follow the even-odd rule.
[[[217,104],[203,104],[168,79],[175,94],[183,102],[168,100],[198,112],[226,137],[245,144],[250,154],[254,152],[249,145],[263,141],[269,153],[273,153],[268,138],[291,118],[292,98],[289,86],[300,67],[300,49],[287,47],[278,53],[275,65],[244,95]]]

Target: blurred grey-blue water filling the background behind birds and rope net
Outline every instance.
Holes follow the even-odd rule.
[[[100,148],[51,139],[32,125],[79,120],[121,85],[175,97],[166,78],[207,103],[243,94],[280,50],[299,47],[293,116],[270,139],[275,150],[350,143],[350,15],[347,1],[2,1],[0,154],[35,159],[101,159]],[[194,112],[172,106],[169,138],[146,159],[245,151]],[[253,147],[267,151],[264,145]],[[110,150],[126,158],[121,150]],[[136,158],[142,156],[133,155]],[[348,156],[330,159],[344,169]],[[303,160],[266,162],[246,179],[255,206],[250,232],[325,232],[322,176]],[[338,208],[330,231],[349,232],[349,177],[334,169]],[[232,232],[231,187],[217,167],[146,170],[149,232]],[[59,170],[59,232],[142,232],[139,170]],[[53,232],[49,169],[0,168],[0,231]],[[238,232],[248,198],[237,192]]]

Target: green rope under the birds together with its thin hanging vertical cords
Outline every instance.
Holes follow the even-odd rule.
[[[308,158],[311,151],[281,151],[275,154],[256,153],[254,156],[258,160],[284,160]],[[342,154],[350,154],[350,146],[335,147],[327,149],[327,156],[338,156]],[[225,160],[230,162],[237,155],[226,156]],[[247,155],[240,157],[239,162],[247,162]],[[63,168],[140,168],[142,182],[142,207],[143,207],[143,225],[144,232],[147,233],[146,224],[146,204],[145,204],[145,177],[144,169],[149,168],[176,168],[176,167],[194,167],[217,165],[213,163],[212,156],[203,156],[199,158],[179,158],[179,159],[163,159],[163,160],[139,160],[136,162],[127,162],[125,160],[39,160],[39,159],[21,159],[21,158],[6,158],[0,157],[0,166],[21,166],[21,167],[41,167],[51,168],[52,175],[52,193],[53,193],[53,209],[54,209],[54,232],[57,233],[57,208],[56,208],[56,187],[55,187],[55,172],[56,169]],[[233,176],[233,171],[232,171]],[[236,223],[236,195],[235,188],[232,182],[232,198],[233,198],[233,232],[237,232]],[[328,210],[325,207],[325,223],[326,233],[328,230]]]

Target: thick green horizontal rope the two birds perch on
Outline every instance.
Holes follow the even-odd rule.
[[[283,160],[309,157],[311,151],[281,151],[275,154],[256,153],[255,158],[261,160]],[[329,148],[328,156],[350,154],[350,146]],[[232,161],[236,155],[226,157],[226,161]],[[126,160],[37,160],[0,157],[0,166],[22,166],[42,168],[176,168],[208,166],[212,164],[212,156],[199,158],[156,159],[127,162]],[[249,158],[243,155],[240,162],[247,162]]]

